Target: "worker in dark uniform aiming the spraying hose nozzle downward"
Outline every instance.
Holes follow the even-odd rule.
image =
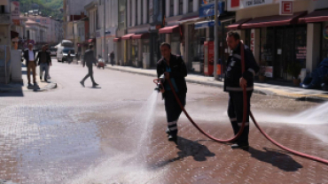
[[[187,67],[184,64],[183,58],[171,54],[171,46],[168,43],[165,42],[160,45],[160,53],[162,58],[157,63],[157,76],[160,78],[162,74],[165,75],[164,88],[160,92],[163,94],[165,111],[167,112],[168,128],[166,132],[168,134],[168,141],[176,142],[176,123],[182,109],[176,102],[176,97],[172,90],[176,91],[180,102],[185,105],[187,84],[184,78],[187,76]],[[171,80],[173,89],[170,88],[168,80]]]

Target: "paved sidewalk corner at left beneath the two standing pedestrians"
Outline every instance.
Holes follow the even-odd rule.
[[[23,82],[11,82],[9,84],[0,84],[0,93],[6,93],[6,92],[23,92],[23,91],[34,91],[34,92],[40,92],[49,90],[52,88],[57,88],[57,83],[53,80],[48,80],[48,82],[40,81],[40,75],[39,75],[39,67],[36,67],[36,86],[27,87],[27,67],[25,65],[22,65],[21,68],[22,72],[22,79]],[[32,71],[31,71],[32,73]],[[43,73],[44,75],[44,73]],[[33,81],[33,77],[31,74],[31,81]]]

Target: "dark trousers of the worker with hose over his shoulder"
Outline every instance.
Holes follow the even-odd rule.
[[[243,134],[237,140],[238,145],[248,145],[248,134],[249,134],[249,113],[251,108],[251,96],[253,91],[247,91],[247,113],[246,122]],[[233,132],[238,134],[239,128],[243,123],[244,113],[244,96],[243,92],[229,92],[229,105],[228,105],[228,116],[231,121]]]

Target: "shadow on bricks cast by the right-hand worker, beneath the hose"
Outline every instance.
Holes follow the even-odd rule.
[[[263,148],[265,151],[254,149],[249,147],[248,152],[251,157],[258,159],[259,161],[266,162],[275,166],[285,172],[296,172],[303,166],[296,162],[293,157],[283,153],[280,150]]]

